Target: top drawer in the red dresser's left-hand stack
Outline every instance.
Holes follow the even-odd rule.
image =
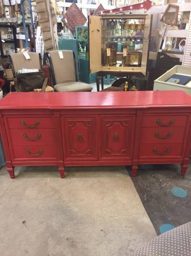
[[[54,128],[51,117],[12,117],[7,122],[10,129]]]

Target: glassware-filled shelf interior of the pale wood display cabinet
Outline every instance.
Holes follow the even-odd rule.
[[[145,19],[103,17],[101,27],[101,65],[141,67]]]

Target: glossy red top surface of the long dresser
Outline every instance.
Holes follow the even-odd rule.
[[[142,92],[9,93],[0,109],[79,109],[191,107],[191,96],[181,90]]]

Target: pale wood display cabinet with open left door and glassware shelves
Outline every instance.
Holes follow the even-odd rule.
[[[146,75],[151,15],[89,17],[90,73],[127,72]]]

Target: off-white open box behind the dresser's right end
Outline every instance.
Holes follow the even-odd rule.
[[[191,95],[191,81],[186,85],[173,84],[172,82],[165,82],[172,75],[185,75],[191,78],[191,67],[185,67],[181,65],[176,65],[169,71],[165,72],[162,76],[154,81],[153,90],[184,90],[184,92]]]

